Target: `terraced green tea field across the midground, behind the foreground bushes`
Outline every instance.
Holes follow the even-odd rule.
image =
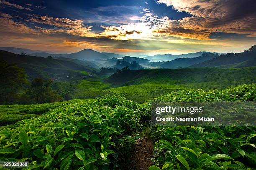
[[[255,75],[256,67],[130,70],[120,77],[108,77],[108,83],[103,82],[106,75],[95,75],[89,80],[81,80],[77,83],[79,90],[74,97],[90,99],[105,94],[117,94],[141,103],[181,89],[221,90],[244,83],[255,83]]]

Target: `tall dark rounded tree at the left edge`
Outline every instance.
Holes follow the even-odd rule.
[[[0,61],[0,103],[13,103],[18,100],[18,92],[28,83],[23,68],[16,64]]]

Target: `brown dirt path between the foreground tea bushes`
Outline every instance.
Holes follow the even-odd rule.
[[[153,146],[154,143],[147,138],[137,139],[135,151],[127,170],[148,170],[148,167],[152,165],[150,160],[153,156]]]

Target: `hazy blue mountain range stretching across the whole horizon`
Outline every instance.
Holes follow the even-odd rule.
[[[2,47],[7,48],[7,47]],[[8,47],[8,50],[15,50],[17,53],[18,50],[28,50],[28,52],[32,51],[29,49],[20,49]],[[6,51],[5,51],[6,52]],[[3,53],[3,51],[2,51]],[[13,53],[12,53],[13,54]],[[14,55],[14,54],[13,54]],[[230,68],[230,67],[249,67],[256,65],[256,46],[252,46],[249,50],[245,50],[241,53],[228,53],[228,54],[219,54],[216,52],[195,52],[189,54],[182,55],[154,55],[154,56],[146,56],[146,57],[131,57],[131,56],[123,56],[115,53],[108,52],[97,52],[91,49],[84,49],[79,52],[74,52],[71,54],[50,54],[48,52],[34,52],[29,55],[17,55],[13,58],[13,62],[22,64],[31,64],[31,60],[38,62],[38,66],[44,65],[45,60],[48,56],[53,57],[54,60],[64,60],[66,62],[72,62],[73,65],[82,65],[87,67],[89,71],[97,70],[100,67],[115,67],[117,61],[125,61],[125,62],[133,62],[136,61],[140,67],[144,68],[164,68],[164,69],[175,69],[179,67],[220,67],[220,68]],[[4,56],[3,54],[1,57]],[[40,57],[39,62],[35,56]],[[20,57],[20,58],[18,58]],[[2,57],[3,58],[3,57]],[[9,60],[8,58],[4,58],[3,60]],[[26,61],[28,60],[28,61]],[[153,62],[152,62],[153,60]],[[167,61],[165,61],[167,60]],[[154,62],[158,61],[158,62]],[[123,62],[123,63],[125,63]],[[52,64],[52,62],[50,62]],[[61,65],[60,62],[59,65]],[[44,67],[49,65],[44,65]],[[70,66],[70,65],[69,65]],[[77,66],[80,69],[80,66]],[[52,66],[50,66],[52,67]],[[56,67],[56,66],[54,66]],[[67,69],[74,69],[74,67],[66,67]],[[56,68],[59,68],[56,67]],[[76,69],[76,70],[79,70]],[[39,69],[40,70],[40,69]],[[82,68],[82,70],[86,70]]]

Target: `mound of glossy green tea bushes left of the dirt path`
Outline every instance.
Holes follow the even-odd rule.
[[[129,135],[140,129],[137,110],[115,95],[63,105],[2,130],[0,160],[28,160],[38,170],[119,169],[135,144]]]

